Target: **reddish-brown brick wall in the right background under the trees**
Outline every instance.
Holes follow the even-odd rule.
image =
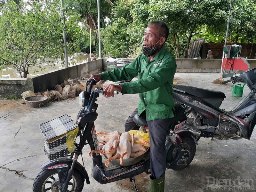
[[[227,45],[231,45],[230,43],[227,43]],[[256,44],[245,44],[245,43],[238,43],[237,45],[242,45],[242,51],[240,57],[248,58],[248,59],[255,59],[255,53],[256,53]],[[222,59],[223,55],[223,47],[224,43],[204,43],[202,47],[202,59],[206,59],[207,53],[209,50],[212,51],[213,59]],[[249,58],[250,52],[251,57]]]

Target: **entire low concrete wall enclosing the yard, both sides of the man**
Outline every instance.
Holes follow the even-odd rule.
[[[97,59],[27,79],[0,78],[0,99],[20,99],[21,93],[25,91],[36,93],[53,90],[57,84],[63,83],[68,78],[80,79],[106,70],[106,61],[107,58]],[[176,59],[177,72],[220,73],[221,61],[221,59]],[[250,63],[250,69],[256,67],[256,60],[247,61]]]

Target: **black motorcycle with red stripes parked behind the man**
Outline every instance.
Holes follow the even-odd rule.
[[[200,137],[211,140],[249,140],[252,135],[256,124],[256,68],[243,72],[240,76],[236,76],[236,73],[227,73],[225,77],[230,79],[223,84],[246,83],[251,90],[231,111],[220,109],[222,101],[226,98],[223,92],[173,85],[173,99],[192,108],[182,129],[193,132],[197,141]]]

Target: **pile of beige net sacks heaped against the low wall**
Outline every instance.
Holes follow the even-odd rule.
[[[54,90],[52,91],[45,91],[45,92],[38,92],[34,93],[32,91],[26,91],[21,93],[22,101],[21,103],[25,103],[24,99],[28,96],[35,96],[35,95],[44,95],[48,98],[49,101],[60,101],[65,100],[70,97],[77,97],[80,92],[85,91],[86,82],[85,80],[79,81],[78,78],[68,80],[64,80],[62,84],[57,84]],[[103,85],[96,84],[93,88],[102,88]]]

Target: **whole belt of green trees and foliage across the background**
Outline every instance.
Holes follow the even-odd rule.
[[[69,54],[90,52],[90,28],[92,52],[97,51],[97,0],[64,2],[68,18],[65,26],[57,1],[33,3],[30,9],[19,0],[1,2],[0,66],[13,64],[26,75],[28,65],[56,57],[63,59],[63,29],[67,33]],[[233,0],[228,43],[255,43],[255,3],[255,0]],[[140,54],[143,33],[151,20],[162,20],[169,26],[165,46],[176,58],[187,58],[189,46],[198,37],[209,43],[225,41],[230,1],[118,0],[114,5],[100,1],[102,52],[107,57]],[[82,25],[78,26],[78,21]]]

